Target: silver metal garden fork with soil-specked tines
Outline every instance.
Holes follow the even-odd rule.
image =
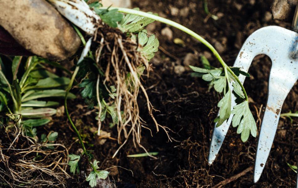
[[[276,133],[281,107],[298,79],[298,33],[297,33],[297,9],[291,31],[279,26],[267,26],[258,29],[251,34],[243,44],[234,67],[240,67],[247,72],[253,58],[259,54],[268,55],[272,61],[269,76],[269,90],[267,106],[264,113],[261,130],[259,132],[258,149],[254,168],[254,182],[256,183],[264,169],[269,152]],[[245,76],[240,75],[239,80],[243,84]],[[232,105],[236,97],[232,95]],[[211,138],[208,163],[211,165],[221,148],[233,118],[230,118],[221,126],[214,128]]]

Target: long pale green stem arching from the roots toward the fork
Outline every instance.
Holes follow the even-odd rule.
[[[107,9],[107,7],[102,7],[101,9]],[[205,40],[203,37],[196,34],[194,31],[188,29],[187,27],[185,27],[181,24],[178,24],[177,22],[174,22],[174,21],[166,19],[166,18],[162,18],[160,16],[156,16],[156,15],[153,15],[153,14],[150,14],[150,13],[145,13],[145,12],[142,12],[142,11],[133,10],[133,9],[129,9],[129,8],[110,7],[109,10],[111,10],[111,9],[118,9],[118,12],[120,12],[120,13],[134,14],[134,15],[145,17],[145,18],[150,18],[150,19],[153,19],[153,20],[158,21],[158,22],[162,22],[164,24],[168,24],[168,25],[173,26],[177,29],[180,29],[184,33],[187,33],[190,36],[194,37],[195,39],[199,40],[201,43],[203,43],[205,46],[207,46],[211,50],[211,52],[216,56],[216,58],[219,60],[219,62],[223,66],[223,68],[227,67],[227,70],[231,73],[232,76],[235,77],[236,81],[240,84],[240,86],[243,90],[243,93],[245,95],[245,99],[248,101],[247,93],[246,93],[241,81],[239,81],[238,77],[234,74],[234,72],[230,69],[230,67],[228,65],[226,65],[225,61],[221,58],[221,56],[216,51],[216,49],[207,40]]]

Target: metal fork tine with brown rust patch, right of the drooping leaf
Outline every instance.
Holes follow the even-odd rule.
[[[281,63],[276,64],[275,61]],[[295,76],[295,71],[293,71],[293,69],[295,70],[295,66],[292,67],[293,69],[291,69],[291,66],[284,66],[284,61],[285,59],[281,56],[272,62],[268,100],[261,125],[256,154],[253,178],[255,183],[259,180],[268,159],[276,133],[281,107],[298,78],[298,75]],[[287,76],[283,77],[284,74]]]

